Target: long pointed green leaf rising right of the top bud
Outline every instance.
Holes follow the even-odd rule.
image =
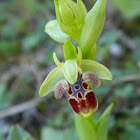
[[[89,50],[99,38],[105,23],[106,0],[97,0],[93,8],[85,17],[81,38],[80,47],[83,58],[86,58]]]

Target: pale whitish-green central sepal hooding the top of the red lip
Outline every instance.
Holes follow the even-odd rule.
[[[62,70],[67,81],[73,85],[77,81],[78,65],[76,60],[67,60],[62,65]]]

